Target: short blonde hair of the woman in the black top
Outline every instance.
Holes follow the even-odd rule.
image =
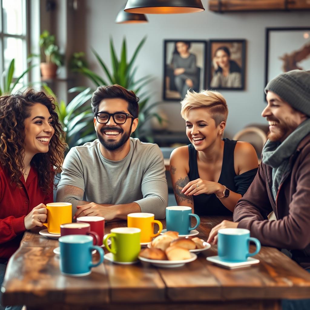
[[[181,101],[181,116],[186,119],[191,109],[207,108],[210,116],[215,120],[215,126],[226,122],[228,107],[224,97],[217,91],[187,91]]]

